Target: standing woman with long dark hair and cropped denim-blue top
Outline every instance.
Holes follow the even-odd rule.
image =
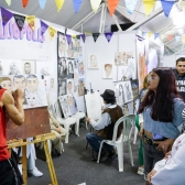
[[[162,160],[179,135],[183,123],[181,113],[185,107],[178,98],[175,77],[170,68],[154,68],[148,77],[148,94],[140,113],[143,113],[144,174]]]

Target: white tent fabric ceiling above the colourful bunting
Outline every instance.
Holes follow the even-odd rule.
[[[102,0],[105,2],[106,0]],[[91,10],[90,0],[83,0],[79,11],[75,13],[73,0],[65,0],[63,8],[59,12],[57,12],[57,8],[55,4],[55,0],[47,0],[44,10],[40,8],[39,0],[30,0],[26,8],[22,7],[22,0],[13,0],[11,1],[11,6],[9,7],[6,0],[0,0],[0,7],[6,9],[28,14],[28,15],[35,15],[39,19],[58,24],[61,26],[65,26],[67,29],[74,28],[77,23],[79,23],[84,18],[86,18]],[[159,8],[161,8],[161,2],[156,1],[153,12],[155,12]],[[182,34],[178,32],[178,28],[174,25],[173,14],[181,12],[181,6],[176,2],[173,6],[171,11],[170,18],[165,18],[164,13],[161,13],[150,20],[149,22],[144,23],[143,25],[139,26],[138,29],[142,32],[152,32],[152,33],[161,33],[164,34],[164,43],[165,43],[165,54],[177,53],[183,51],[184,44],[182,42],[176,42],[175,40],[167,42],[167,34]],[[81,26],[76,28],[75,30],[78,32],[90,32],[97,33],[99,32],[100,26],[100,15],[101,10],[98,13],[95,13],[88,21],[83,22]],[[144,8],[142,0],[138,0],[135,9],[132,14],[129,14],[124,0],[119,0],[119,4],[116,9],[115,15],[117,17],[118,23],[139,23],[143,20],[148,19],[144,14]],[[110,17],[108,10],[106,13],[106,22],[105,22],[105,32],[110,31],[111,24],[116,24],[113,19]],[[181,29],[185,26],[182,24]]]

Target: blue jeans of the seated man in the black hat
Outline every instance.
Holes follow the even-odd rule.
[[[102,140],[105,140],[105,138],[98,137],[94,132],[89,132],[89,133],[87,133],[86,139],[87,139],[87,142],[92,148],[92,150],[98,153],[99,152],[100,142]],[[108,152],[111,152],[113,150],[113,146],[109,145],[107,143],[104,143],[104,149],[106,151],[108,151]]]

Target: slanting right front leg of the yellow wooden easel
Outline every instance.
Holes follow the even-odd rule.
[[[56,174],[55,174],[55,170],[54,170],[54,165],[53,165],[53,161],[52,161],[52,156],[51,156],[51,153],[50,153],[50,150],[48,150],[47,140],[43,141],[43,144],[44,144],[46,162],[47,162],[47,165],[48,165],[48,171],[50,171],[51,178],[52,178],[52,185],[58,185]]]

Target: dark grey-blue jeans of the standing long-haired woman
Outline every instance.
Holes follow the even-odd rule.
[[[156,146],[149,145],[143,142],[143,156],[144,156],[144,174],[148,175],[150,173],[155,163],[163,160],[165,156],[163,151],[156,150]]]

